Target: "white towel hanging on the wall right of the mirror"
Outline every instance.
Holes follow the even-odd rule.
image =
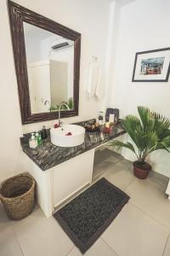
[[[101,68],[96,61],[93,61],[89,65],[88,69],[88,96],[97,96],[99,99],[102,96],[101,88]]]

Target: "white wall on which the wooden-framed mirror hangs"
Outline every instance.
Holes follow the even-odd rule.
[[[92,55],[97,55],[101,63],[105,63],[105,44],[108,27],[109,0],[50,0],[15,1],[28,9],[68,26],[82,33],[82,56],[80,76],[79,116],[64,119],[65,122],[94,118],[100,110],[102,102],[88,99],[85,88],[88,76],[88,63]],[[6,0],[0,1],[0,181],[15,172],[22,172],[26,167],[20,148],[19,137],[22,132],[48,127],[54,121],[33,125],[21,125],[20,108],[14,73],[14,58],[8,24]]]

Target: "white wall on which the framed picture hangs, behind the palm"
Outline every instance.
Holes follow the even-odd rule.
[[[136,113],[136,107],[143,105],[170,118],[170,81],[132,83],[136,52],[170,46],[170,1],[136,0],[124,5],[119,11],[116,59],[111,84],[112,105],[120,108],[122,117],[128,113]],[[129,152],[126,157],[133,160]],[[169,154],[164,151],[151,154],[150,163],[156,172],[170,177]]]

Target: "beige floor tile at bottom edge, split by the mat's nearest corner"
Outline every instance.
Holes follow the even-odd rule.
[[[92,247],[88,249],[86,253],[83,254],[84,256],[118,256],[112,249],[109,247],[105,241],[101,238],[98,239],[94,243]],[[77,247],[74,247],[71,253],[68,256],[82,256],[82,253],[79,251]]]

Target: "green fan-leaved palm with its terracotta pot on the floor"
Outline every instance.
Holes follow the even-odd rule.
[[[158,149],[164,149],[170,153],[168,149],[170,147],[170,119],[144,107],[138,107],[138,113],[139,118],[127,115],[122,120],[122,126],[133,143],[114,140],[111,146],[116,147],[117,150],[128,148],[133,151],[137,158],[133,162],[134,175],[146,178],[151,170],[150,164],[145,161],[147,155]]]

